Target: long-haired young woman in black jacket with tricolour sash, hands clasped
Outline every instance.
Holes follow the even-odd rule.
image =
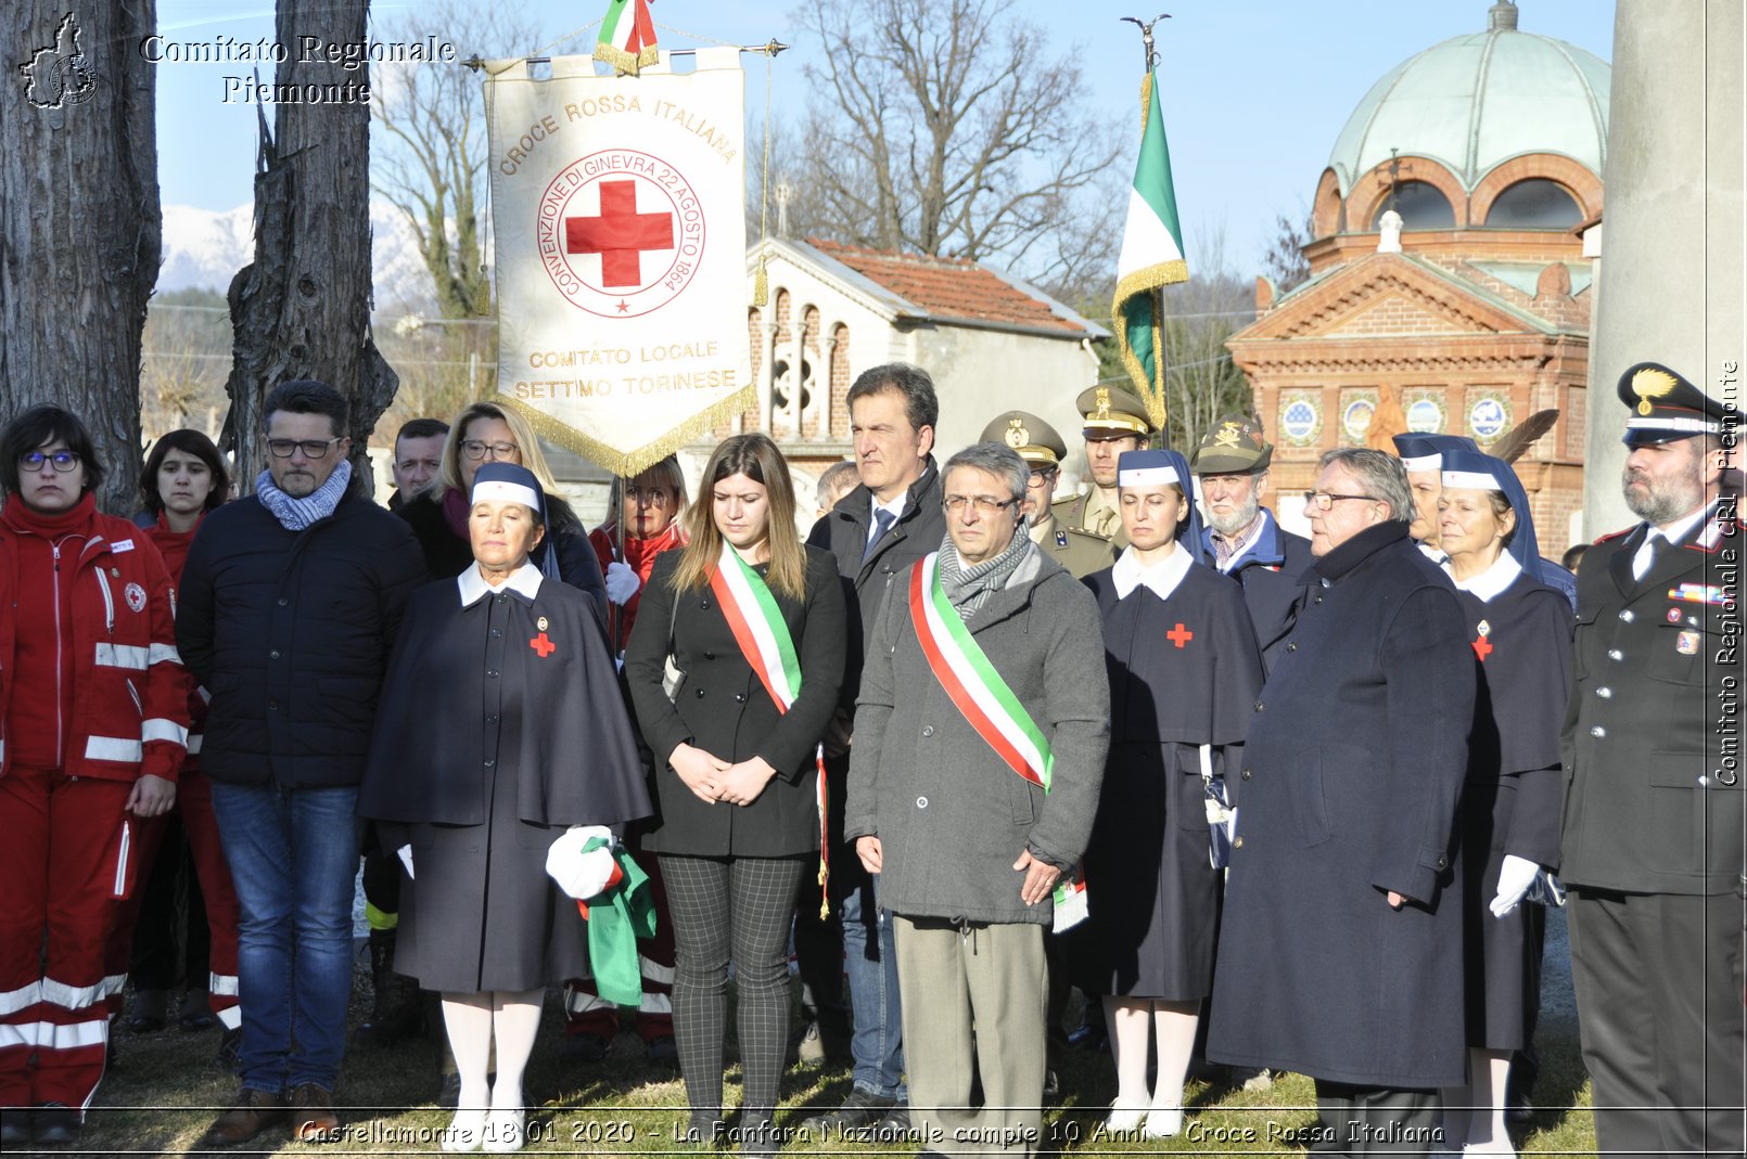
[[[655,752],[659,854],[673,909],[673,986],[690,1131],[722,1121],[728,962],[744,1070],[739,1136],[774,1152],[788,1044],[788,927],[819,850],[819,738],[844,679],[844,593],[830,553],[795,531],[788,463],[763,435],[704,466],[687,546],[655,560],[625,651]],[[680,686],[664,677],[683,674]]]

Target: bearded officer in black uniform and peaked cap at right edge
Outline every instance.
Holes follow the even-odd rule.
[[[1742,1154],[1740,496],[1733,408],[1619,379],[1642,520],[1578,580],[1560,876],[1604,1154]]]

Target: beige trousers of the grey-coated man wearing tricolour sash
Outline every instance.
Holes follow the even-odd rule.
[[[1031,1156],[1043,1143],[1043,927],[893,915],[910,1122],[924,1152]],[[971,1073],[984,1103],[970,1107]]]

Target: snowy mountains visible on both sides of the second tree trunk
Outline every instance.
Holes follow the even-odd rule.
[[[239,269],[255,260],[255,208],[201,209],[164,206],[164,257],[157,290],[224,293]],[[433,307],[432,279],[418,237],[393,204],[370,201],[370,258],[379,314],[423,314]]]

